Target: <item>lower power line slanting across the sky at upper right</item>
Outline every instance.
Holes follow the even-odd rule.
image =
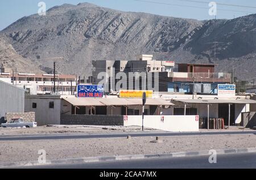
[[[197,8],[197,9],[207,9],[209,10],[209,7],[200,7],[200,6],[190,6],[190,5],[177,5],[173,3],[165,3],[165,2],[156,2],[156,1],[148,1],[148,0],[132,0],[132,1],[138,1],[138,2],[146,2],[146,3],[154,3],[158,5],[171,5],[171,6],[180,6],[180,7],[192,7],[192,8]],[[177,0],[181,1],[181,0]],[[187,0],[188,1],[188,0]],[[237,5],[239,6],[239,5]],[[231,12],[243,12],[243,13],[252,13],[254,14],[255,12],[250,12],[250,11],[240,11],[240,10],[227,10],[227,9],[218,9],[220,11],[231,11]]]

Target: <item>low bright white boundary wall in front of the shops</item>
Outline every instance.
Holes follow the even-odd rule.
[[[142,126],[142,116],[123,116],[123,125]],[[144,127],[171,132],[199,131],[199,116],[144,116]]]

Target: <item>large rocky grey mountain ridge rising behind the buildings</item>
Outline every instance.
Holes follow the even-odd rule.
[[[139,12],[122,12],[89,3],[55,6],[26,16],[0,32],[16,52],[52,71],[89,75],[92,60],[134,60],[141,53],[176,62],[232,65],[241,79],[256,77],[256,15],[199,21]],[[1,52],[0,52],[1,53]],[[50,58],[50,59],[49,59]]]

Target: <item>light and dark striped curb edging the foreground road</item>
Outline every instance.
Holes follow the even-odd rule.
[[[255,153],[256,148],[245,149],[222,149],[216,150],[217,154],[237,154],[237,153]],[[62,165],[62,164],[81,164],[84,162],[106,162],[106,161],[121,161],[121,160],[142,160],[147,158],[172,158],[172,157],[193,157],[193,156],[207,156],[210,155],[209,150],[194,151],[194,152],[177,152],[170,154],[137,154],[137,155],[125,155],[125,156],[105,156],[105,157],[84,157],[84,158],[70,158],[63,160],[46,161],[44,164],[40,164],[38,161],[30,162],[12,162],[6,164],[0,164],[2,168],[22,168],[29,166],[42,166],[42,165]]]

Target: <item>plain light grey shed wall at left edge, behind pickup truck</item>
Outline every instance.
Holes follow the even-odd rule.
[[[0,124],[6,112],[24,112],[24,90],[0,81]]]

